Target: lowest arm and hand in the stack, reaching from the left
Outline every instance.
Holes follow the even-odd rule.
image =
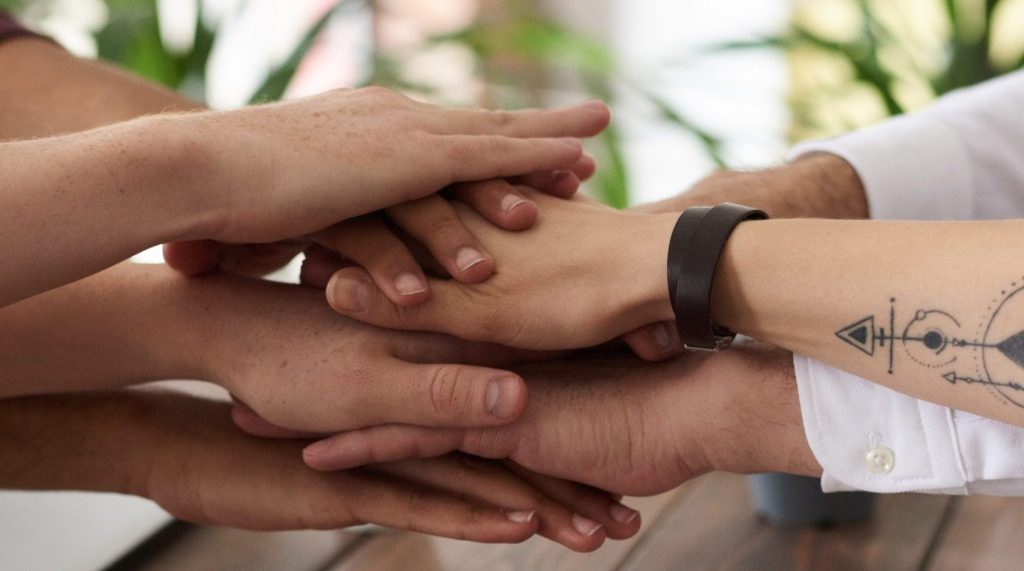
[[[540,533],[592,551],[639,529],[611,517],[631,511],[603,492],[489,460],[317,473],[303,442],[250,437],[229,406],[151,391],[0,400],[0,487],[139,495],[189,522],[256,530],[377,523],[487,542]]]

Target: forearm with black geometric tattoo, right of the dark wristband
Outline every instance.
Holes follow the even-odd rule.
[[[1024,424],[1019,221],[741,224],[723,325],[894,390]]]

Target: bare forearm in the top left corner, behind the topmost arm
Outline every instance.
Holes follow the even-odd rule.
[[[0,43],[0,140],[85,131],[143,115],[199,108],[169,89],[39,38]]]

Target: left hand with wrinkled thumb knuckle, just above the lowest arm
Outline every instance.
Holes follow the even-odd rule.
[[[228,275],[181,281],[202,308],[197,367],[268,421],[308,432],[388,423],[497,426],[526,406],[519,376],[490,368],[547,355],[443,335],[379,330],[323,294]],[[468,363],[468,364],[455,364]]]

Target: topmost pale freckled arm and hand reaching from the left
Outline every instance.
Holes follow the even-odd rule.
[[[30,44],[45,42],[14,40],[0,51]],[[151,111],[167,106],[173,105]],[[100,114],[93,125],[114,115]],[[38,117],[30,114],[26,123]],[[63,129],[55,124],[61,117],[38,121],[43,128],[36,136],[89,124],[69,121]],[[600,131],[606,122],[599,103],[552,112],[454,111],[371,88],[3,142],[0,208],[18,215],[4,221],[0,234],[0,255],[8,262],[0,305],[161,243],[292,239],[427,197],[459,180],[521,175],[547,178],[564,191],[575,174],[560,175],[559,182],[531,173],[588,170],[572,137]],[[30,131],[23,125],[10,132]]]

